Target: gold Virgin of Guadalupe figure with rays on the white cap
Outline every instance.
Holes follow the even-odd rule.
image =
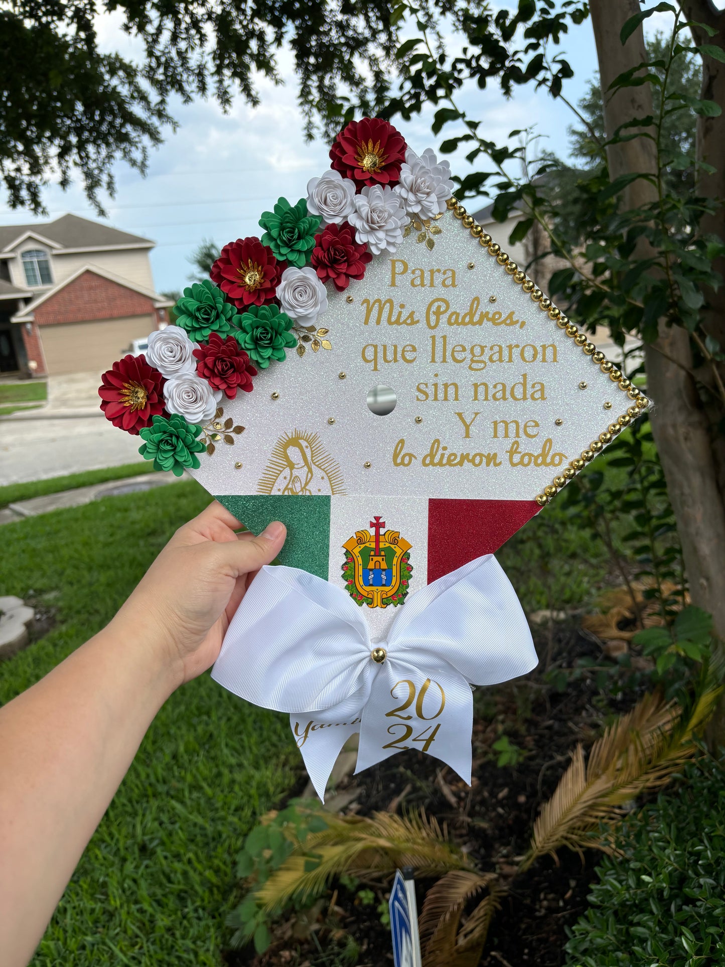
[[[289,454],[290,447],[301,455],[300,465]],[[331,494],[344,494],[345,482],[342,479],[337,461],[322,446],[317,433],[311,430],[293,429],[291,433],[280,436],[272,449],[270,461],[257,484],[257,493],[270,496],[279,494],[302,494],[317,496],[319,487],[312,487],[315,472],[327,478]],[[280,476],[289,473],[289,481],[284,487],[275,487]]]

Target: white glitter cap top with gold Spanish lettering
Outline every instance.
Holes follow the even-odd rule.
[[[288,351],[284,363],[273,363],[259,372],[252,393],[240,393],[235,400],[222,399],[224,419],[232,417],[235,424],[244,425],[246,430],[235,438],[234,447],[219,443],[213,456],[200,454],[201,468],[191,471],[200,484],[213,494],[259,492],[259,480],[275,441],[300,430],[318,434],[324,449],[337,462],[344,492],[349,495],[531,500],[551,483],[562,466],[587,449],[609,423],[626,411],[630,403],[627,397],[536,306],[451,212],[447,211],[437,223],[442,234],[436,236],[432,251],[417,242],[414,231],[394,256],[373,256],[362,281],[352,281],[341,293],[328,287],[329,308],[317,325],[329,329],[327,338],[332,342],[332,350],[314,353],[307,345],[302,358],[294,350]],[[394,286],[392,258],[398,260],[395,267],[399,272]],[[475,265],[473,269],[467,267],[470,262]],[[401,271],[403,263],[407,263],[407,273]],[[411,285],[414,269],[423,270],[424,287]],[[431,287],[431,270],[436,269],[454,269],[455,286],[442,286],[444,274],[437,272]],[[349,296],[352,303],[347,302]],[[491,296],[496,297],[495,303],[489,302]],[[362,301],[389,298],[393,300],[394,313],[403,305],[401,317],[413,311],[419,321],[415,325],[389,325],[386,310],[379,325],[375,324],[376,312],[364,325]],[[449,311],[437,328],[431,329],[426,324],[426,308],[432,300],[441,298],[448,300]],[[512,313],[518,323],[449,325],[449,312],[463,315],[475,298],[479,300],[478,313],[499,311],[500,322]],[[432,337],[438,350],[436,362],[431,362]],[[441,361],[440,355],[444,337],[448,348],[446,362]],[[362,358],[364,354],[372,359],[373,345],[378,347],[377,371]],[[395,345],[397,363],[384,363],[384,352],[388,359],[393,359]],[[415,355],[415,362],[402,361],[401,352],[406,345],[415,346],[406,354],[408,359]],[[506,362],[471,368],[475,365],[470,358],[472,345],[487,347],[486,360],[490,347],[501,345]],[[541,359],[544,345],[548,347],[546,362]],[[463,362],[451,360],[453,346],[465,347],[465,351],[457,351]],[[527,359],[534,359],[536,353],[536,361],[523,362],[522,352]],[[341,371],[346,374],[344,379],[338,378]],[[511,399],[512,390],[514,396],[523,395],[524,377],[529,398]],[[586,389],[579,388],[582,381],[586,382]],[[445,383],[449,384],[449,401],[442,398]],[[476,383],[488,384],[488,401],[482,398],[482,387],[476,401]],[[544,399],[531,398],[536,383],[543,384]],[[427,384],[427,400],[421,398],[419,384]],[[436,384],[439,401],[433,398]],[[457,401],[453,384],[457,384]],[[506,400],[493,399],[496,384],[505,384]],[[389,386],[397,395],[397,405],[388,416],[376,416],[367,408],[367,392],[376,385]],[[272,398],[275,392],[279,394],[277,399]],[[500,388],[498,392],[502,392]],[[613,404],[609,410],[604,409],[607,400]],[[477,412],[478,417],[474,418]],[[469,423],[474,420],[468,439],[457,413]],[[422,421],[417,424],[419,416]],[[331,417],[333,424],[328,422]],[[555,424],[558,418],[563,420],[561,426]],[[500,420],[518,422],[517,440],[516,424],[509,424],[506,439],[504,425],[497,425]],[[436,439],[441,452],[446,447],[449,454],[497,454],[499,465],[486,466],[483,461],[479,467],[470,462],[462,466],[424,466],[422,458]],[[541,452],[547,439],[551,441],[552,454],[564,454],[558,466],[534,463],[533,456]],[[393,465],[392,454],[399,440],[405,441],[404,452],[416,457],[410,466]],[[524,461],[530,461],[529,466],[511,464],[507,451],[515,444],[519,453],[532,454],[524,457]],[[242,461],[241,469],[235,467],[237,460]],[[369,469],[364,467],[366,461],[371,464]],[[400,513],[409,513],[408,508],[405,502],[405,511],[401,506]],[[363,513],[369,513],[366,506]],[[398,519],[394,526],[402,533]],[[348,531],[343,540],[349,536]],[[331,534],[331,542],[336,542],[337,537],[333,540]]]

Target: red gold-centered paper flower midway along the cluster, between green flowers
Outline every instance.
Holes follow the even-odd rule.
[[[272,249],[252,236],[225,245],[209,275],[230,302],[245,308],[272,302],[283,269]]]

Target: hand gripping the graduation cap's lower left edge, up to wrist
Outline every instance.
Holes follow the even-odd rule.
[[[249,582],[274,561],[287,533],[278,521],[259,537],[235,534],[241,526],[217,501],[210,504],[179,528],[111,622],[159,650],[172,689],[217,660]]]

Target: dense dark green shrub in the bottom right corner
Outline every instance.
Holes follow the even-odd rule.
[[[568,967],[725,964],[724,762],[702,759],[678,792],[632,816],[599,864],[570,931]]]

